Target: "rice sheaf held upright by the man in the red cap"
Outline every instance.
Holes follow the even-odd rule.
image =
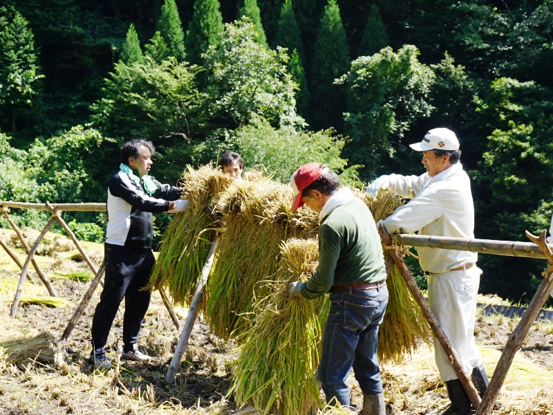
[[[315,370],[328,297],[288,301],[290,282],[307,281],[317,268],[318,251],[313,239],[281,244],[273,293],[259,302],[263,309],[256,324],[243,335],[229,390],[237,407],[252,405],[261,414],[275,415],[306,415],[321,407]]]

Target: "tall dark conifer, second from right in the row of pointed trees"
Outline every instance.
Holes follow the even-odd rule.
[[[340,9],[336,0],[328,0],[319,24],[310,78],[311,120],[315,129],[343,130],[341,118],[346,110],[346,98],[344,89],[334,80],[348,71],[349,64],[350,52]]]

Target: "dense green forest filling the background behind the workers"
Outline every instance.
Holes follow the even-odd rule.
[[[422,174],[407,145],[448,127],[476,237],[525,241],[553,212],[552,35],[553,0],[2,0],[0,200],[104,201],[129,138],[168,183],[236,149],[283,181],[318,160],[360,186]],[[70,226],[101,241],[105,222]],[[515,302],[545,266],[478,264]]]

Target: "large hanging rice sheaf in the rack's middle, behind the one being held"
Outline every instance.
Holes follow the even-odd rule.
[[[290,227],[292,190],[254,175],[235,181],[221,196],[223,215],[217,261],[207,282],[205,316],[220,338],[236,338],[254,320],[256,299],[270,294],[266,280],[277,271],[280,244]]]

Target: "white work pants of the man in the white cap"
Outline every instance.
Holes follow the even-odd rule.
[[[476,294],[482,270],[472,266],[467,270],[430,274],[428,277],[429,306],[449,342],[460,356],[468,376],[472,369],[482,365],[482,358],[474,340]],[[434,354],[443,382],[458,379],[442,345],[434,340]]]

